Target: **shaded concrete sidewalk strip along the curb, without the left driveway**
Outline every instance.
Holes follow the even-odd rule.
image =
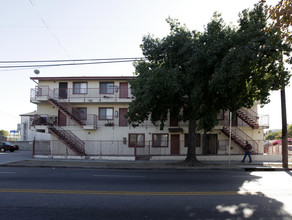
[[[69,159],[29,159],[1,164],[8,167],[52,167],[84,169],[143,169],[143,170],[243,170],[282,171],[280,162],[241,163],[238,161],[204,161],[198,166],[184,166],[181,161],[123,161],[123,160],[69,160]],[[289,170],[292,164],[289,163]]]

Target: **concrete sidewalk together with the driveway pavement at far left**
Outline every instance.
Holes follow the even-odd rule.
[[[85,168],[85,169],[167,169],[167,170],[284,170],[279,160],[260,160],[254,157],[253,163],[241,163],[242,156],[202,158],[201,164],[187,167],[181,160],[106,160],[106,159],[64,159],[64,158],[33,158],[31,151],[15,151],[0,153],[0,166],[6,167],[52,167],[52,168]],[[268,159],[271,159],[270,157]],[[266,161],[266,162],[264,162]],[[292,160],[289,159],[289,168],[292,169]]]

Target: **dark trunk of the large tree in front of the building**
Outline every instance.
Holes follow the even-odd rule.
[[[189,136],[188,136],[188,154],[185,159],[187,164],[199,163],[196,153],[196,121],[189,120]]]

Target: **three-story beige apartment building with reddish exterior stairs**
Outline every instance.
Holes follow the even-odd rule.
[[[49,140],[35,140],[35,154],[80,158],[154,159],[185,157],[187,122],[169,117],[164,129],[145,121],[128,124],[125,114],[133,99],[129,81],[135,77],[32,77],[30,101],[37,105],[32,125]],[[263,153],[263,129],[268,118],[259,117],[257,103],[240,109],[232,120],[229,112],[218,115],[212,132],[197,133],[198,155],[242,154],[245,141],[254,153]],[[231,137],[230,137],[231,134]],[[229,137],[231,147],[229,147]]]

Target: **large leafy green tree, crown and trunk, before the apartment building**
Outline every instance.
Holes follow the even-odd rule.
[[[241,13],[236,28],[226,26],[214,14],[203,32],[189,31],[168,19],[170,34],[151,35],[141,45],[146,60],[135,64],[137,78],[131,82],[135,99],[128,120],[138,125],[150,119],[163,129],[168,115],[188,121],[188,164],[197,162],[196,131],[211,131],[222,110],[251,107],[255,100],[267,103],[269,91],[288,82],[279,64],[281,51],[289,47],[265,32],[261,5]]]

